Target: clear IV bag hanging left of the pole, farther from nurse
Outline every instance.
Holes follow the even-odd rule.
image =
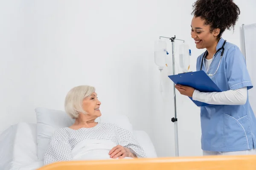
[[[166,65],[166,42],[165,41],[155,41],[154,42],[154,61],[158,66],[159,70],[163,70]]]

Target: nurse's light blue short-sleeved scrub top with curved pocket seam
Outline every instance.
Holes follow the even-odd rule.
[[[223,43],[221,38],[216,50],[221,48]],[[217,70],[221,51],[212,60],[208,74],[214,74]],[[204,53],[197,59],[197,71],[200,70],[203,56]],[[202,70],[207,71],[205,62]],[[253,88],[245,58],[239,48],[230,42],[224,45],[224,54],[217,73],[209,77],[222,91]],[[201,107],[201,130],[202,150],[231,152],[253,149],[256,144],[256,117],[249,99],[247,98],[245,105]]]

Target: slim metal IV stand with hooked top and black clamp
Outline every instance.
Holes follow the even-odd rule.
[[[169,38],[169,37],[159,37],[161,38],[168,38],[172,41],[172,63],[173,63],[173,75],[175,75],[175,57],[174,57],[174,41],[179,40],[176,39],[176,36]],[[185,42],[184,40],[180,40]],[[172,122],[174,123],[174,135],[175,135],[175,156],[179,156],[179,143],[178,143],[178,124],[177,124],[177,109],[176,109],[176,90],[175,90],[175,83],[173,83],[173,91],[174,91],[174,114],[175,117],[172,118]]]

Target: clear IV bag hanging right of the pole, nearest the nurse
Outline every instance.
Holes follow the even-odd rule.
[[[188,44],[181,44],[180,45],[180,52],[179,52],[179,62],[180,68],[183,72],[189,71],[190,61],[189,61],[189,45]]]

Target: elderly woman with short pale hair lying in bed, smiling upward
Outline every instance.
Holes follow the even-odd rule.
[[[108,159],[145,157],[143,148],[131,132],[111,123],[95,122],[95,119],[102,115],[99,110],[100,105],[101,102],[97,98],[94,87],[81,85],[68,92],[65,110],[71,118],[75,119],[75,123],[53,133],[44,154],[44,164],[74,160],[74,156],[79,154],[80,158],[93,159],[93,154],[95,154],[91,153],[93,147],[99,150],[96,159],[106,159],[106,155]],[[93,140],[97,142],[92,143]],[[107,147],[106,144],[104,147],[101,146],[105,152],[102,151],[104,149],[100,151],[97,148],[102,141],[108,142]],[[84,148],[88,149],[81,153]],[[74,154],[76,152],[80,153]],[[81,156],[86,154],[89,156]]]

